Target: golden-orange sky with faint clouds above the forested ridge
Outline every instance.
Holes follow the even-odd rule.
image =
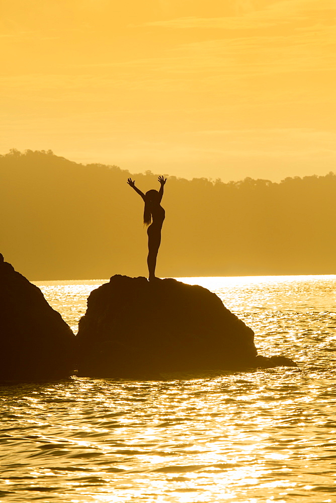
[[[0,153],[223,181],[335,171],[334,0],[2,0]]]

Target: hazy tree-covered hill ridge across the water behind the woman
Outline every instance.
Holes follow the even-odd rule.
[[[0,156],[0,251],[30,280],[147,275],[143,202],[157,176],[49,151]],[[169,177],[158,276],[334,274],[336,175]]]

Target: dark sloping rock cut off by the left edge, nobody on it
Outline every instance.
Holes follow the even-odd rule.
[[[75,337],[41,290],[0,254],[0,378],[49,379],[73,373]]]

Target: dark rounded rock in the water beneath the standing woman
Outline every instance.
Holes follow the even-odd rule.
[[[279,365],[257,357],[253,330],[214,293],[175,279],[113,276],[91,293],[77,338],[80,376]]]

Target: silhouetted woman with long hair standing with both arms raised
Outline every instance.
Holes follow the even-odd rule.
[[[145,209],[143,212],[143,223],[145,225],[149,225],[147,229],[148,234],[148,272],[149,272],[149,281],[155,279],[155,266],[156,266],[156,257],[158,248],[161,242],[161,228],[164,220],[164,209],[160,205],[162,196],[163,196],[163,186],[167,179],[163,177],[158,177],[158,181],[161,184],[160,190],[149,190],[144,194],[135,187],[135,180],[129,178],[127,180],[128,185],[130,185],[135,192],[137,192],[145,202]],[[152,221],[152,223],[150,223]]]

